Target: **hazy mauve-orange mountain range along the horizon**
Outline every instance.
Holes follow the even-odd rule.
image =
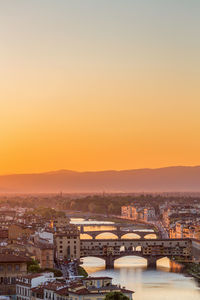
[[[0,176],[1,193],[200,192],[200,166]]]

